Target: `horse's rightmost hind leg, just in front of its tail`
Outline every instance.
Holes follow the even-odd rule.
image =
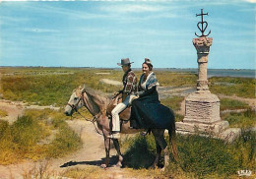
[[[169,163],[169,151],[168,151],[167,144],[163,137],[164,129],[154,129],[154,130],[152,130],[152,132],[153,132],[156,142],[160,145],[160,149],[162,149],[163,153],[164,153],[164,167],[163,167],[163,169],[164,169]]]

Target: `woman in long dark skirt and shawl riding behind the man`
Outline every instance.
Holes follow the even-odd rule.
[[[138,98],[133,100],[131,109],[131,127],[135,129],[172,128],[174,113],[160,104],[157,77],[153,72],[150,59],[142,64],[143,74],[138,85]]]

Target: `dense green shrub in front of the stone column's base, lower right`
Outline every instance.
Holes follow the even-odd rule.
[[[238,168],[238,160],[223,141],[199,136],[179,136],[179,165],[185,172],[202,177],[217,173],[230,175]],[[182,141],[182,142],[181,142]]]

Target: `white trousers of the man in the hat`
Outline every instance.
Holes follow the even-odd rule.
[[[112,114],[112,131],[120,132],[120,119],[119,119],[119,113],[122,112],[128,105],[132,103],[133,97],[136,95],[129,94],[125,98],[125,100],[119,104],[117,104],[111,114]]]

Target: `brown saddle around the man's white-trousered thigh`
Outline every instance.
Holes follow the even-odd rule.
[[[112,98],[109,104],[106,107],[106,114],[111,116],[111,111],[113,108],[122,102],[122,93],[117,94]],[[128,121],[131,116],[131,106],[127,106],[121,113],[119,113],[120,120]]]

